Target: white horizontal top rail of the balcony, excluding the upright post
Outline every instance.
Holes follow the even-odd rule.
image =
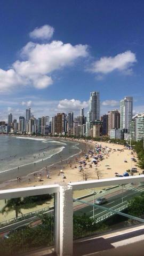
[[[98,188],[105,186],[113,185],[123,185],[127,183],[139,183],[144,182],[144,175],[137,175],[134,177],[120,177],[120,178],[109,178],[109,179],[100,179],[100,180],[88,180],[88,181],[78,181],[78,182],[69,182],[65,185],[69,185],[73,190],[81,190],[87,188]],[[4,189],[0,190],[0,200],[17,198],[17,197],[26,197],[26,196],[35,196],[35,195],[44,195],[44,194],[53,194],[58,193],[61,185],[43,185],[37,187],[25,187],[25,188],[13,188],[13,189]]]

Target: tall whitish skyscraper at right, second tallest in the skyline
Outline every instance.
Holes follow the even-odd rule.
[[[130,119],[132,118],[133,98],[125,97],[120,101],[120,128],[129,132]]]

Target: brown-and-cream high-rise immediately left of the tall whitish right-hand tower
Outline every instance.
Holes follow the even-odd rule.
[[[111,129],[119,129],[120,114],[119,110],[115,109],[108,111],[108,135],[110,135]]]

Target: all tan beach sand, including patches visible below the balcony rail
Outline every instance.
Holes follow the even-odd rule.
[[[82,142],[82,140],[78,140],[79,142]],[[104,159],[102,161],[100,161],[97,164],[97,169],[100,172],[100,179],[105,179],[105,178],[114,178],[115,177],[115,172],[117,172],[119,175],[123,175],[123,173],[126,170],[130,169],[130,150],[129,149],[125,149],[125,147],[123,145],[117,145],[117,144],[112,144],[112,143],[107,143],[107,142],[95,142],[95,141],[88,141],[88,142],[84,142],[86,145],[86,150],[88,151],[89,149],[92,149],[95,147],[96,143],[100,143],[102,147],[108,147],[110,148],[110,153],[104,156]],[[114,151],[114,149],[116,149],[116,151]],[[123,151],[117,151],[117,149],[123,149]],[[74,181],[83,181],[83,174],[82,172],[79,172],[78,170],[78,160],[79,159],[84,159],[84,155],[85,155],[85,151],[83,151],[83,153],[69,159],[69,162],[67,161],[67,163],[59,163],[55,166],[55,169],[49,169],[50,171],[50,179],[47,179],[46,175],[46,170],[45,168],[43,168],[43,170],[39,170],[39,172],[42,173],[42,181],[38,181],[38,178],[35,177],[33,174],[28,175],[27,179],[25,180],[21,180],[21,182],[5,182],[4,184],[4,188],[3,189],[10,189],[10,188],[22,188],[22,187],[31,187],[31,186],[41,186],[41,185],[52,185],[52,184],[63,184],[63,183],[68,183],[68,182],[74,182]],[[133,157],[135,157],[137,159],[137,155],[133,154]],[[79,159],[78,159],[79,157]],[[77,158],[77,159],[76,159]],[[92,167],[89,167],[89,163],[91,163],[91,158],[90,162],[87,161],[87,165],[86,168],[84,169],[85,172],[89,173],[87,175],[88,179],[87,180],[97,180],[97,173],[95,172],[95,167],[96,165],[92,164]],[[127,163],[124,162],[124,160],[127,161]],[[70,162],[71,161],[71,162]],[[71,165],[71,167],[70,167]],[[106,166],[107,165],[107,166]],[[77,166],[75,168],[75,166]],[[138,169],[138,173],[136,173],[136,175],[138,175],[139,173],[141,174],[142,170],[140,170],[137,166],[137,163],[134,163],[132,161],[132,167],[137,167]],[[109,168],[109,169],[107,169]],[[60,174],[60,170],[63,170],[63,174]],[[38,173],[39,173],[38,172]],[[37,176],[38,176],[37,173]],[[65,175],[66,179],[63,179],[63,175]],[[134,174],[135,175],[135,174]],[[28,179],[30,179],[30,181],[28,181]],[[100,190],[100,188],[99,188]],[[82,195],[87,195],[90,194],[89,190],[79,190],[79,191],[75,191],[74,193],[74,197],[77,198],[79,196]],[[4,202],[0,202],[0,210],[2,209]],[[48,206],[51,206],[53,204],[52,202],[49,202]],[[38,209],[41,209],[43,207],[46,207],[47,205],[42,205],[42,206],[37,206],[35,207],[33,210],[28,209],[28,210],[22,210],[22,213],[27,213],[27,212],[31,212],[31,211],[35,211]],[[6,220],[6,219],[10,219],[10,218],[14,218],[14,212],[11,212],[8,215],[2,215],[0,214],[0,222],[2,220]]]

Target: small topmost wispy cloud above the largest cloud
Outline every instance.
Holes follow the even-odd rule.
[[[31,38],[38,39],[50,39],[53,36],[54,28],[49,25],[44,25],[42,27],[37,27],[29,33]]]

